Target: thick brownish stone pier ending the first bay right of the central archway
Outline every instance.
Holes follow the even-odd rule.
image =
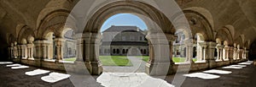
[[[215,42],[207,42],[206,63],[208,63],[208,68],[215,68],[216,67],[216,62],[215,62],[215,59],[214,59],[215,47],[216,47]]]

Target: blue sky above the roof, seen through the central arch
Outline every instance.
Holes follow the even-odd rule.
[[[104,24],[102,24],[101,32],[108,29],[111,25],[134,25],[139,27],[141,30],[148,29],[143,20],[133,14],[113,15],[112,17],[108,18]]]

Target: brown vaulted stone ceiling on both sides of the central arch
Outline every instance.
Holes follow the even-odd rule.
[[[0,0],[0,39],[7,41],[7,34],[18,35],[18,24],[26,24],[32,30],[37,29],[38,16],[49,6],[70,2],[73,0]],[[76,0],[75,0],[76,1]],[[79,0],[77,0],[79,1]],[[256,1],[255,0],[176,0],[182,9],[192,8],[201,14],[211,14],[213,30],[218,32],[226,25],[232,25],[235,37],[244,35],[244,42],[256,39]],[[55,2],[49,4],[49,2]],[[63,3],[67,4],[67,3]],[[201,11],[206,9],[207,11]],[[207,13],[206,13],[207,12]],[[2,42],[4,43],[4,42]]]

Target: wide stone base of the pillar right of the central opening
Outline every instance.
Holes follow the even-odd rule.
[[[174,73],[171,63],[146,64],[146,73],[152,76],[166,76]]]

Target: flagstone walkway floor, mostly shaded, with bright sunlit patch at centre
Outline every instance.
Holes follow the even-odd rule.
[[[41,77],[49,73],[40,74],[37,76],[27,76],[27,71],[32,71],[38,68],[29,66],[23,69],[11,69],[6,65],[0,65],[0,87],[73,87],[73,86],[122,86],[134,87],[137,85],[147,87],[168,87],[172,85],[182,87],[254,87],[256,85],[256,67],[254,65],[247,65],[247,67],[240,69],[227,69],[227,68],[214,68],[218,70],[231,71],[230,74],[211,73],[220,76],[218,79],[199,79],[199,78],[186,78],[182,82],[172,82],[175,75],[166,76],[165,80],[156,79],[148,76],[145,73],[132,73],[129,78],[124,76],[117,76],[113,73],[102,73],[101,76],[82,76],[79,74],[71,74],[70,79],[63,79],[56,83],[44,82]],[[45,68],[41,68],[45,69]],[[45,69],[49,70],[49,69]],[[50,72],[59,72],[49,70]],[[202,73],[203,71],[191,72]],[[112,74],[112,75],[111,75]],[[119,74],[119,73],[118,73]],[[128,73],[125,73],[128,74]],[[183,73],[177,73],[176,76],[183,77]],[[74,80],[75,79],[75,80]],[[145,81],[146,80],[146,81]],[[131,83],[130,83],[131,82]],[[143,84],[144,83],[144,84]],[[145,84],[146,83],[146,84]],[[75,84],[75,85],[74,85]],[[101,85],[102,84],[102,85]],[[122,85],[120,85],[122,84]]]

